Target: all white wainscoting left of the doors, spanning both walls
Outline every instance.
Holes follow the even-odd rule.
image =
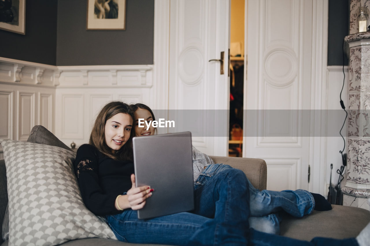
[[[68,146],[87,143],[95,116],[108,101],[155,101],[152,68],[51,66],[0,57],[0,139],[26,141],[41,124]]]

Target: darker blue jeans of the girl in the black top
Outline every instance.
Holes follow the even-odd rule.
[[[125,209],[120,214],[105,218],[118,240],[131,243],[358,245],[356,239],[317,238],[307,242],[248,229],[249,182],[245,174],[235,168],[223,168],[214,175],[204,176],[197,184],[194,195],[195,210],[191,212],[138,219],[137,211]],[[343,242],[346,244],[341,244]]]

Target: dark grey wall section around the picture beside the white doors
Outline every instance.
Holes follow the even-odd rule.
[[[56,64],[153,64],[154,0],[127,0],[126,30],[86,30],[85,0],[59,0]]]

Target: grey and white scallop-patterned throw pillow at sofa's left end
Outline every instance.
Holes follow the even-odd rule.
[[[15,140],[2,140],[1,145],[9,196],[9,245],[116,239],[82,201],[73,171],[75,153]]]

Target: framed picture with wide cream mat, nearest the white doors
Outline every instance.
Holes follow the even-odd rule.
[[[87,0],[86,30],[125,30],[126,0]]]

